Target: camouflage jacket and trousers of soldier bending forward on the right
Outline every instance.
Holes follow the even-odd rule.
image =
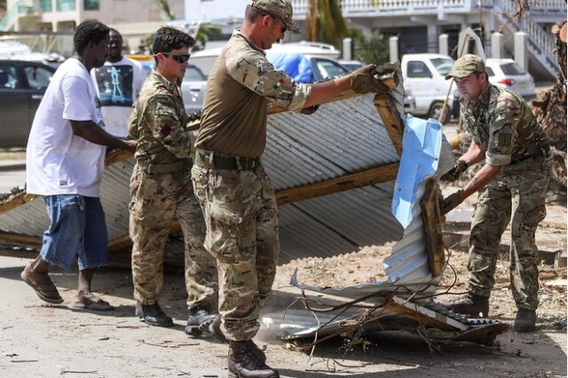
[[[547,141],[525,100],[488,85],[473,101],[461,99],[461,117],[485,161],[501,166],[479,191],[469,235],[468,290],[488,297],[501,234],[511,221],[510,282],[517,307],[538,307],[538,248],[534,232],[546,216],[544,168]]]

